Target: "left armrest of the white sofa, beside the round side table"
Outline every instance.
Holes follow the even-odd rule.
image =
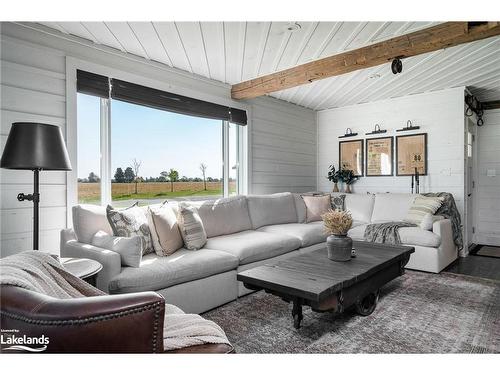
[[[120,254],[112,250],[78,242],[72,229],[61,231],[61,256],[68,258],[89,258],[102,264],[97,274],[97,287],[108,292],[110,280],[121,272]]]

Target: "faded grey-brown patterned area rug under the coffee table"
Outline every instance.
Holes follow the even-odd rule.
[[[293,328],[291,306],[263,291],[209,311],[237,353],[498,353],[500,283],[407,271],[381,289],[372,315],[315,313]]]

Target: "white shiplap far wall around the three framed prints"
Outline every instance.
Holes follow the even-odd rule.
[[[325,178],[330,164],[338,166],[339,140],[366,139],[375,124],[387,129],[383,136],[396,133],[411,120],[420,126],[413,133],[428,134],[428,175],[422,176],[420,192],[447,191],[454,195],[464,212],[464,88],[436,91],[373,103],[318,112],[318,189],[329,191]],[[339,139],[350,127],[359,135]],[[373,138],[373,136],[372,136]],[[354,191],[410,192],[411,177],[362,177]]]

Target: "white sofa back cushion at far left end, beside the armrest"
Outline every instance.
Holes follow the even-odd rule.
[[[72,208],[73,229],[78,242],[90,244],[94,234],[102,230],[113,234],[106,217],[106,207],[93,204],[79,204]]]

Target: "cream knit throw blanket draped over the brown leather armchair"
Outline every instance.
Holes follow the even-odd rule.
[[[0,259],[0,284],[15,285],[60,299],[105,295],[67,272],[56,259],[41,251],[25,251]],[[163,350],[202,344],[230,345],[222,328],[214,322],[165,304]]]

